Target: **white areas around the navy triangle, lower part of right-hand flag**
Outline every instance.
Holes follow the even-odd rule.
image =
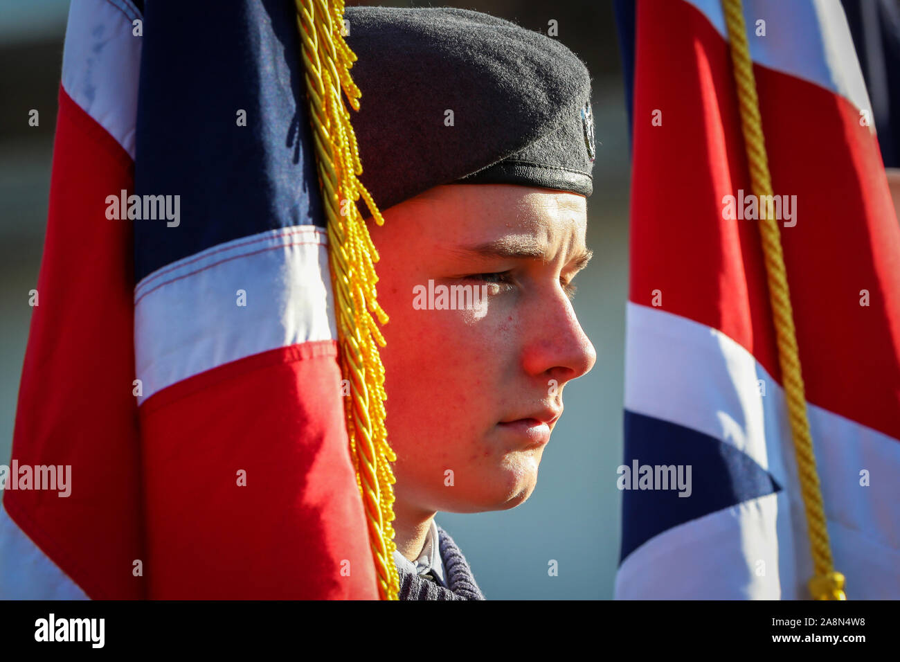
[[[680,587],[683,598],[773,597],[778,592],[771,585],[773,558],[781,597],[805,596],[812,566],[783,389],[721,331],[631,302],[626,317],[626,409],[742,450],[785,490],[778,494],[777,508],[741,504],[648,540],[619,568],[617,597],[662,597],[666,583],[673,591]],[[763,380],[765,395],[757,379]],[[900,441],[814,404],[807,404],[807,413],[834,564],[847,576],[849,596],[898,599]],[[864,469],[868,486],[860,485]],[[728,544],[731,538],[740,548]],[[730,549],[734,558],[720,558],[720,571],[710,570],[710,559],[725,554],[719,549]],[[661,558],[671,558],[673,565]],[[768,574],[756,576],[755,563],[767,558]],[[644,573],[659,579],[640,579]],[[696,576],[693,583],[673,582],[671,576],[679,574]]]

